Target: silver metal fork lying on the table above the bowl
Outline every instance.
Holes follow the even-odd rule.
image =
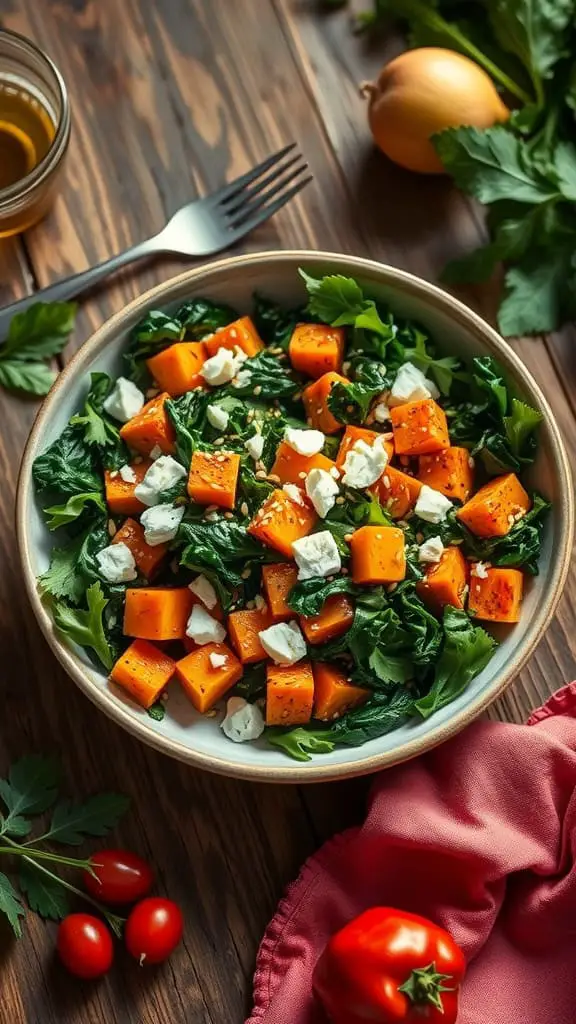
[[[312,174],[302,176],[307,164],[298,153],[294,155],[295,146],[295,142],[284,146],[230,184],[180,207],[152,239],[89,270],[75,273],[4,306],[0,309],[0,338],[6,337],[14,313],[23,312],[35,302],[75,298],[126,263],[158,253],[208,256],[233,246],[254,227],[263,224],[312,181]],[[285,159],[289,155],[289,159]]]

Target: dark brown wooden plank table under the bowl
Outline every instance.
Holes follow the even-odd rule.
[[[0,302],[83,269],[160,228],[197,194],[297,140],[316,181],[250,238],[254,250],[357,253],[436,280],[483,236],[448,181],[402,173],[370,145],[357,84],[394,54],[315,0],[0,0],[5,28],[44,46],[72,93],[66,180],[48,219],[0,246]],[[111,313],[182,264],[117,278],[87,301],[66,357]],[[488,318],[494,296],[464,296]],[[519,341],[576,452],[576,371],[567,332]],[[0,773],[29,752],[61,756],[71,795],[119,788],[133,809],[118,840],[157,865],[182,905],[183,946],[163,970],[119,958],[98,986],[54,963],[55,928],[0,930],[1,1024],[240,1024],[258,940],[286,883],[334,830],[360,819],[366,780],[250,785],[193,771],[97,714],[44,643],[20,582],[12,499],[36,404],[0,394]],[[576,579],[530,665],[492,710],[522,721],[576,655]]]

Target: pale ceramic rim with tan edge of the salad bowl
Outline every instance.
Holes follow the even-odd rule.
[[[372,274],[375,273],[382,279],[382,284],[388,285],[405,294],[408,293],[427,300],[433,305],[450,314],[456,323],[464,325],[469,332],[479,337],[485,347],[498,356],[507,372],[511,372],[513,376],[520,379],[523,388],[530,394],[531,399],[535,401],[537,408],[542,412],[550,441],[550,455],[559,481],[560,536],[558,543],[554,544],[551,579],[547,592],[540,602],[538,612],[534,615],[528,633],[508,662],[505,670],[500,676],[496,677],[491,685],[478,695],[470,706],[454,715],[448,722],[440,726],[433,735],[408,739],[394,751],[367,755],[354,764],[323,765],[321,759],[313,759],[305,764],[287,762],[286,766],[242,766],[219,756],[196,752],[178,740],[154,732],[146,721],[134,718],[131,712],[120,700],[117,700],[110,690],[100,690],[95,687],[87,677],[80,658],[58,639],[53,630],[51,618],[40,600],[36,577],[32,568],[31,542],[28,537],[29,511],[34,495],[32,465],[41,444],[44,427],[50,419],[52,409],[57,402],[59,394],[66,390],[68,384],[77,375],[82,374],[84,364],[97,356],[111,341],[114,341],[116,335],[124,328],[127,321],[139,316],[147,308],[150,308],[154,304],[163,305],[169,303],[172,301],[172,294],[177,293],[184,286],[188,287],[190,285],[191,289],[195,289],[198,286],[202,287],[202,284],[209,282],[211,276],[219,278],[233,268],[237,269],[239,266],[257,264],[265,266],[271,261],[274,261],[276,264],[284,263],[287,269],[292,267],[294,270],[300,263],[311,262],[313,264],[331,264],[335,271],[338,268],[342,268],[343,270],[347,268],[347,272],[349,273],[354,268],[359,274],[362,274],[363,271]],[[562,595],[570,568],[570,555],[572,552],[574,496],[568,455],[560,428],[546,398],[513,349],[478,313],[436,285],[385,263],[379,263],[376,260],[347,255],[345,253],[288,249],[228,256],[212,263],[187,270],[167,282],[156,285],[106,321],[74,354],[70,362],[57,377],[49,394],[40,407],[25,447],[18,474],[15,519],[16,539],[26,591],[36,620],[51,650],[65,671],[100,711],[147,745],[194,767],[204,768],[216,774],[253,781],[300,783],[306,781],[329,781],[365,775],[423,754],[463,729],[504,692],[533,653],[534,648],[553,616]]]

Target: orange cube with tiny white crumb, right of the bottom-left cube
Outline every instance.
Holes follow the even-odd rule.
[[[225,657],[224,664],[214,668],[210,654]],[[210,711],[242,678],[240,662],[223,643],[202,644],[176,662],[175,670],[186,695],[201,715]]]

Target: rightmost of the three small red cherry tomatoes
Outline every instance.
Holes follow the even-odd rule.
[[[124,939],[128,952],[140,965],[168,958],[182,937],[182,915],[172,900],[151,896],[132,910]]]

